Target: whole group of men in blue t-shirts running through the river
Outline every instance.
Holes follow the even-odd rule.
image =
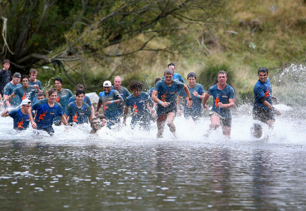
[[[0,71],[1,104],[5,111],[1,116],[11,116],[16,130],[25,130],[31,123],[33,129],[46,131],[53,135],[53,124],[64,125],[65,130],[75,124],[90,123],[91,133],[96,133],[102,127],[109,129],[126,125],[126,117],[131,114],[131,127],[150,130],[152,122],[157,123],[157,138],[162,138],[165,124],[176,137],[173,120],[176,115],[184,114],[185,118],[197,121],[202,118],[202,109],[208,109],[206,103],[213,96],[212,109],[209,112],[211,130],[221,126],[225,137],[231,137],[232,115],[230,108],[235,106],[234,89],[226,83],[227,73],[217,73],[218,83],[205,92],[202,85],[196,83],[196,74],[187,75],[188,84],[183,77],[175,73],[174,64],[169,64],[164,70],[163,79],[157,78],[155,86],[143,92],[143,83],[132,81],[129,85],[132,94],[121,86],[122,78],[116,76],[114,85],[107,80],[103,83],[103,92],[99,93],[99,101],[94,109],[90,98],[85,95],[84,86],[75,86],[74,95],[69,89],[63,88],[61,78],[54,79],[54,87],[46,93],[42,91],[41,83],[36,79],[37,71],[21,75],[8,70],[10,62],[3,62]],[[273,127],[274,114],[281,112],[272,105],[272,86],[268,78],[268,70],[258,70],[259,80],[254,86],[253,119]],[[9,78],[9,79],[8,79]],[[22,85],[19,82],[22,82]],[[5,85],[3,85],[6,83]],[[47,94],[47,98],[46,98]],[[183,102],[182,102],[183,99]],[[183,106],[182,106],[183,105]],[[182,109],[181,109],[182,106]],[[14,108],[14,109],[11,109]],[[100,114],[101,113],[101,114]],[[261,124],[255,122],[251,129],[254,137],[261,137]]]

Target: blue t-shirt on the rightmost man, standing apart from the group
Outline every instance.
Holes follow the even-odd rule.
[[[267,78],[267,82],[263,83],[258,80],[253,89],[254,92],[254,106],[253,109],[257,108],[270,110],[266,107],[263,102],[268,101],[272,105],[272,85],[270,79]]]

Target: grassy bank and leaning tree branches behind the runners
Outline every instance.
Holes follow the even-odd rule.
[[[260,67],[278,85],[274,75],[305,63],[304,0],[0,4],[0,57],[12,61],[13,72],[36,68],[45,88],[60,76],[64,87],[83,83],[87,92],[100,92],[102,82],[116,75],[126,87],[141,80],[149,88],[174,63],[184,78],[195,72],[205,90],[219,70],[227,71],[238,102],[248,102]]]

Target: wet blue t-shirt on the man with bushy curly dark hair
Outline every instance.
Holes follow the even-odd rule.
[[[125,105],[131,107],[132,124],[141,122],[145,125],[150,124],[148,103],[153,103],[150,96],[145,92],[140,92],[139,97],[134,97],[133,94],[125,99]]]

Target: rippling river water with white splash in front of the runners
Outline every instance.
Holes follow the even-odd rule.
[[[0,210],[306,210],[305,107],[278,105],[273,130],[250,135],[251,106],[233,109],[232,139],[176,117],[149,132],[55,127],[16,132],[0,118]]]

